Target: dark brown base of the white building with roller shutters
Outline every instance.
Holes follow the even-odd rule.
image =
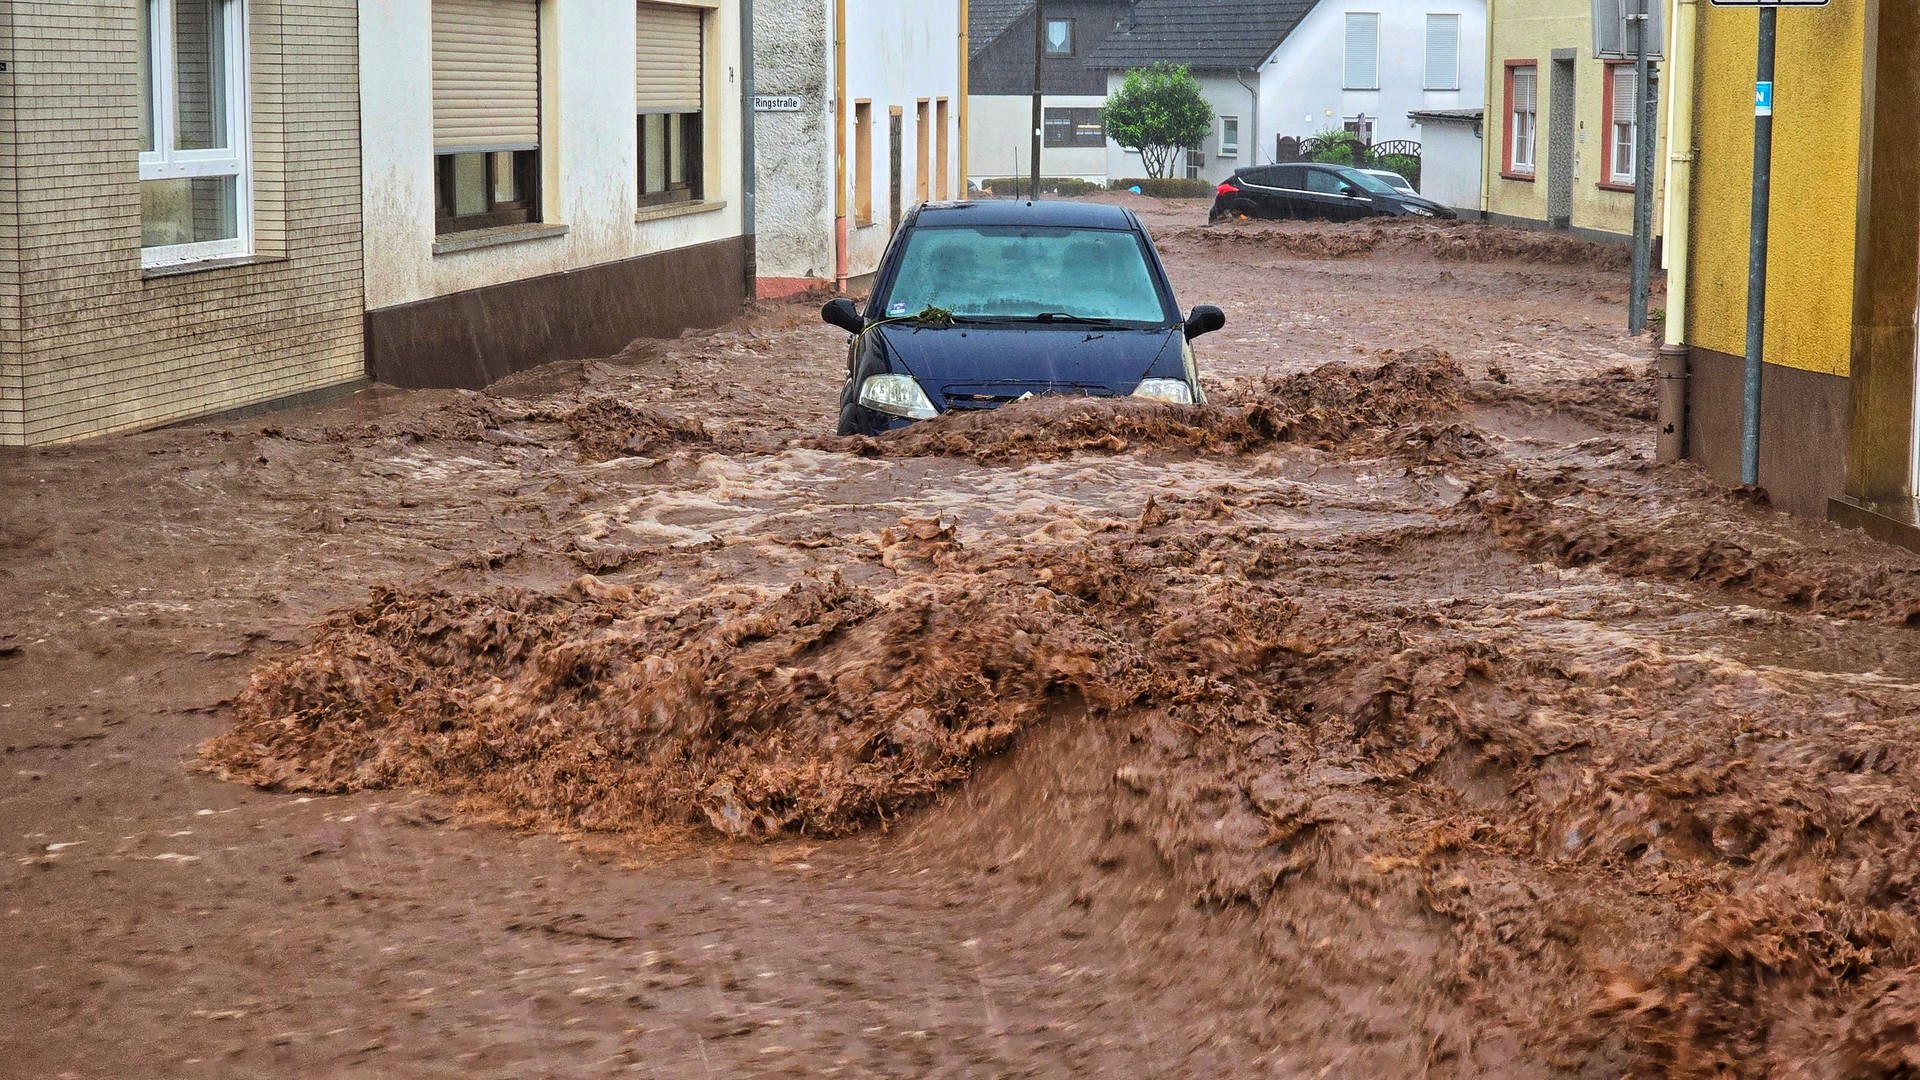
[[[751,240],[733,236],[367,313],[367,373],[394,386],[480,388],[636,338],[718,327],[747,300]]]

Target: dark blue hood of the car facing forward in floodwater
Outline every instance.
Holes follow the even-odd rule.
[[[1021,386],[1035,394],[1131,394],[1148,373],[1179,377],[1179,327],[876,327],[893,365],[929,394]]]

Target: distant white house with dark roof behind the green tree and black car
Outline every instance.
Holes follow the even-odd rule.
[[[1140,0],[1089,63],[1110,92],[1131,67],[1188,65],[1215,115],[1188,175],[1219,181],[1283,136],[1417,140],[1409,111],[1484,104],[1484,56],[1486,0]],[[1139,177],[1139,154],[1110,146],[1108,173]]]

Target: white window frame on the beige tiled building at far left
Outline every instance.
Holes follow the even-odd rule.
[[[142,267],[165,267],[196,263],[205,259],[227,259],[250,256],[253,252],[253,167],[252,167],[252,117],[253,106],[248,96],[248,38],[246,0],[215,0],[225,8],[227,27],[227,146],[221,150],[177,150],[175,131],[179,117],[179,79],[175,71],[175,0],[144,0],[148,15],[148,79],[152,79],[154,108],[148,121],[154,125],[154,150],[140,154],[142,181],[180,181],[202,177],[234,179],[234,231],[227,240],[205,240],[200,244],[169,244],[163,248],[140,248]],[[144,138],[146,133],[142,133]]]

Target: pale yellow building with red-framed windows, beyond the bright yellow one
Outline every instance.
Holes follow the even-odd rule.
[[[1594,56],[1592,0],[1488,0],[1486,8],[1486,217],[1632,236],[1634,65]],[[1661,127],[1657,165],[1667,156]],[[1655,234],[1661,173],[1655,167]]]

